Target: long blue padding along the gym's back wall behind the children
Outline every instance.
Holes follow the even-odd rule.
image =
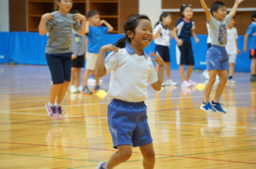
[[[105,44],[114,43],[119,40],[122,35],[108,34],[105,37]],[[207,36],[198,35],[200,39],[199,43],[195,43],[192,39],[193,51],[195,54],[195,69],[205,70],[206,66],[206,54],[207,54]],[[25,65],[46,65],[45,59],[45,46],[47,42],[47,36],[39,36],[37,32],[0,32],[0,63],[13,63],[13,64],[25,64]],[[239,36],[238,47],[240,50],[243,47],[243,36]],[[146,54],[154,52],[154,42],[145,48]],[[171,42],[171,68],[177,70],[176,64],[176,42],[172,39]],[[249,54],[241,52],[236,59],[236,71],[249,72],[251,60]]]

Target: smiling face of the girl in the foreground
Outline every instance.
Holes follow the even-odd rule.
[[[146,48],[153,39],[153,29],[149,20],[139,20],[135,32],[128,31],[131,43],[136,44],[137,48]]]

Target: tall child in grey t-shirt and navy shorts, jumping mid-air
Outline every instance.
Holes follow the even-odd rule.
[[[42,16],[38,30],[41,36],[49,32],[45,53],[53,84],[45,108],[50,118],[62,119],[61,102],[71,74],[72,30],[84,36],[85,17],[82,14],[68,14],[73,6],[72,0],[57,0],[56,3],[56,11]]]

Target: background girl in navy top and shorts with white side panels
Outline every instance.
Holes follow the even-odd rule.
[[[194,37],[195,42],[199,42],[199,39],[195,36],[195,23],[191,20],[193,17],[192,6],[183,4],[180,8],[180,14],[182,19],[177,20],[173,28],[173,37],[177,42],[176,55],[179,75],[182,80],[181,87],[195,87],[197,83],[190,79],[195,65],[190,37]],[[185,65],[189,65],[186,78],[184,76]]]

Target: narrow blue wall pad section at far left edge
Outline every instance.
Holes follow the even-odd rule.
[[[0,32],[0,64],[8,60],[9,32]]]

